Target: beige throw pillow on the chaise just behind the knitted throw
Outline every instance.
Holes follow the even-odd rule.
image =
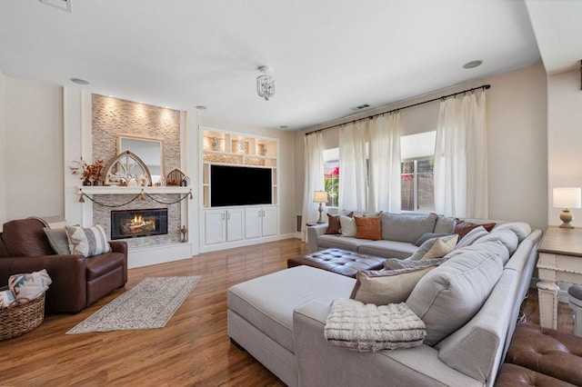
[[[387,305],[402,303],[412,293],[416,283],[437,265],[398,270],[364,270],[356,275],[356,285],[350,298],[361,303]]]

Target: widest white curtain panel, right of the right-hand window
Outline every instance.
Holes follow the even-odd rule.
[[[437,213],[487,219],[485,92],[440,103],[434,174]]]

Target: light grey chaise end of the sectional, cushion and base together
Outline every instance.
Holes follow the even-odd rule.
[[[288,386],[296,386],[293,311],[317,300],[349,298],[356,280],[297,266],[238,283],[226,293],[228,335]]]

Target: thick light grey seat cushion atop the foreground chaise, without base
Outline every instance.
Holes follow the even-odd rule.
[[[309,266],[296,266],[228,289],[228,308],[288,351],[293,345],[293,310],[311,300],[349,298],[356,280]]]

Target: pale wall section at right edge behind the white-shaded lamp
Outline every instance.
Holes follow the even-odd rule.
[[[580,72],[547,77],[547,216],[558,225],[560,209],[552,207],[552,189],[582,186],[582,90]],[[582,225],[582,209],[572,210],[574,225]]]

